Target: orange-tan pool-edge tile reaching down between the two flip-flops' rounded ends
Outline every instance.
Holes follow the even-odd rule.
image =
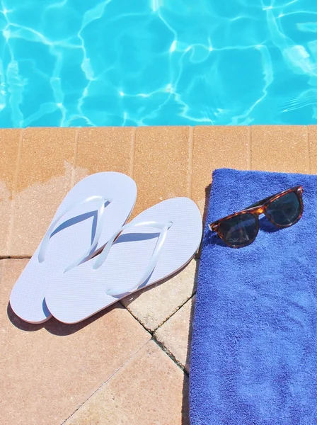
[[[133,178],[138,198],[133,216],[161,200],[190,195],[190,128],[137,128]]]

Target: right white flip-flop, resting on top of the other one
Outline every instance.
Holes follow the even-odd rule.
[[[201,238],[197,205],[164,200],[115,232],[101,254],[58,276],[47,288],[47,307],[60,322],[81,322],[183,268]]]

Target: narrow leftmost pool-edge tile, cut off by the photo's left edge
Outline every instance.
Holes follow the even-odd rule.
[[[0,130],[0,256],[8,256],[11,200],[16,181],[21,133],[22,130]]]

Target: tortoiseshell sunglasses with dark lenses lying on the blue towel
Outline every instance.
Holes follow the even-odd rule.
[[[302,186],[269,196],[242,211],[227,215],[209,225],[225,244],[241,248],[252,244],[259,231],[259,215],[265,214],[277,227],[290,227],[303,214]]]

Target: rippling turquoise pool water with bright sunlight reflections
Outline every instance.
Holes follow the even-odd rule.
[[[0,127],[317,123],[317,0],[0,8]]]

